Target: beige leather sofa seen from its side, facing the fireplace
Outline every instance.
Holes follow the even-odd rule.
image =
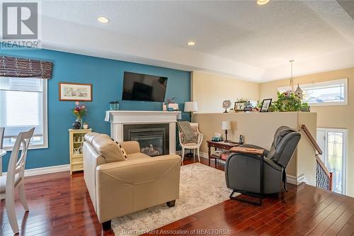
[[[179,197],[181,157],[177,154],[149,157],[139,143],[121,142],[127,153],[108,135],[88,133],[84,142],[84,179],[103,228],[110,220]]]

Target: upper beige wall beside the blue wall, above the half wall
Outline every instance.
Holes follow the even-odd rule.
[[[198,103],[198,113],[222,112],[222,101],[244,98],[258,101],[258,84],[202,72],[192,73],[192,101]]]

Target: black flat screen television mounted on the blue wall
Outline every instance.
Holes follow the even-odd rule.
[[[124,72],[122,100],[165,101],[167,77]]]

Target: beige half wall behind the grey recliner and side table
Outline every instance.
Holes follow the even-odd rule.
[[[298,129],[305,123],[311,133],[316,133],[316,113],[195,113],[192,118],[193,122],[199,123],[200,133],[204,135],[204,140],[210,140],[216,132],[224,136],[221,124],[223,120],[229,120],[232,130],[228,133],[228,139],[238,141],[239,135],[244,135],[246,143],[265,147],[268,150],[272,145],[275,130],[280,125]],[[207,142],[202,142],[200,151],[207,153]],[[308,156],[314,157],[314,150],[302,139],[299,142],[297,153],[287,167],[287,174],[298,178],[304,176],[304,181],[315,185],[315,159],[304,158]]]

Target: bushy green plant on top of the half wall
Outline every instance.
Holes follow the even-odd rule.
[[[274,111],[309,111],[309,104],[303,103],[293,91],[278,92],[278,100],[272,103]]]

